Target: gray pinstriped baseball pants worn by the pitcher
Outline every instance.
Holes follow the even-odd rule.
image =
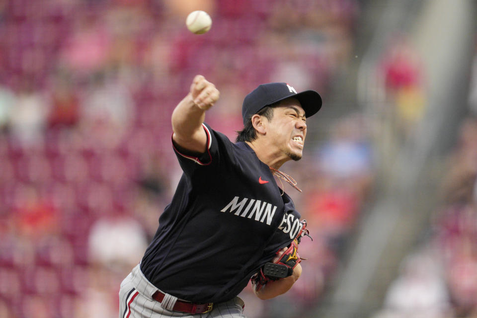
[[[228,302],[214,304],[209,313],[195,314],[171,311],[175,298],[166,294],[161,303],[151,296],[158,290],[142,273],[139,265],[121,283],[119,290],[119,318],[246,318],[243,301],[236,297]],[[165,294],[165,293],[164,293]],[[167,304],[166,304],[167,303]]]

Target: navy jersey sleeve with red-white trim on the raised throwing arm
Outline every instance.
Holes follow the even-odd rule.
[[[207,150],[202,154],[188,154],[179,151],[172,142],[172,147],[179,161],[180,167],[186,175],[191,176],[197,170],[214,170],[219,165],[221,158],[229,157],[231,141],[210,128],[206,124],[202,124],[207,135]]]

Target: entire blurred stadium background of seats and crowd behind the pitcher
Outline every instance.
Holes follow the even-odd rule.
[[[283,170],[310,224],[249,318],[477,317],[473,0],[0,0],[0,317],[117,317],[180,168],[170,114],[202,74],[235,139],[245,94],[324,100]],[[193,35],[185,17],[210,13]]]

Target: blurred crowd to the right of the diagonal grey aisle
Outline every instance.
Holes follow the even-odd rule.
[[[477,317],[477,51],[469,109],[441,165],[438,208],[374,318]]]

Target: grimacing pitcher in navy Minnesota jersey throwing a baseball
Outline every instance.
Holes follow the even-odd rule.
[[[237,295],[250,279],[256,296],[270,299],[301,275],[297,249],[308,230],[283,182],[300,189],[278,169],[302,157],[306,118],[321,97],[287,83],[258,86],[243,101],[236,143],[204,123],[218,98],[198,75],[172,113],[183,174],[143,259],[121,283],[122,318],[241,318]]]

